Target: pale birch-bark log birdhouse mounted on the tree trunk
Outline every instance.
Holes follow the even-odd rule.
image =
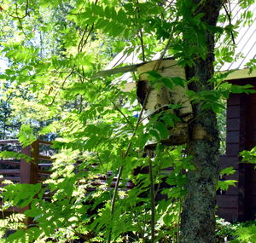
[[[156,70],[157,68],[157,70]],[[173,85],[172,90],[165,85],[151,85],[148,80],[148,72],[155,70],[163,78],[183,78],[185,79],[185,70],[177,66],[177,61],[173,59],[164,59],[162,61],[150,61],[137,67],[139,73],[139,81],[137,82],[137,98],[141,104],[147,96],[148,99],[144,104],[145,111],[143,119],[148,122],[150,118],[156,113],[165,111],[176,115],[180,121],[176,122],[174,127],[168,127],[170,136],[162,141],[166,145],[178,145],[188,142],[189,125],[188,122],[193,117],[192,106],[189,97],[186,94],[188,90],[187,85]],[[170,105],[179,105],[177,109]],[[175,107],[175,106],[173,106]],[[148,145],[154,145],[155,141],[148,142]]]

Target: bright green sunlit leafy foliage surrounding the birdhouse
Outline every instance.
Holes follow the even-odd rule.
[[[160,141],[181,119],[163,111],[144,124],[144,107],[137,103],[135,89],[124,89],[125,78],[94,74],[121,51],[137,55],[138,62],[150,61],[156,53],[172,55],[181,67],[205,59],[204,31],[211,27],[201,21],[204,14],[195,14],[196,8],[192,1],[169,5],[156,0],[1,3],[0,20],[8,28],[1,36],[1,53],[8,60],[0,77],[1,99],[8,101],[8,113],[20,127],[23,147],[44,136],[55,139],[52,148],[58,151],[42,185],[4,188],[4,206],[28,205],[24,215],[32,224],[24,228],[23,214],[3,219],[1,229],[16,230],[3,242],[179,241],[186,174],[195,167],[183,146],[165,147]],[[229,40],[237,26],[211,29],[226,34],[222,49],[216,49],[220,63],[233,60]],[[184,37],[191,42],[183,42]],[[189,99],[204,111],[219,113],[224,110],[220,100],[230,92],[253,92],[249,85],[223,83],[226,75],[209,80],[215,90],[189,90]],[[156,89],[193,81],[164,78],[155,71],[148,77]],[[132,79],[137,81],[137,75]],[[154,152],[145,149],[155,140]],[[28,160],[14,152],[0,157]],[[229,185],[234,182],[219,182],[218,187]]]

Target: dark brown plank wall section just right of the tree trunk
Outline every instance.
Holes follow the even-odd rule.
[[[244,169],[239,164],[238,153],[245,149],[245,97],[232,94],[227,101],[226,154],[220,156],[220,169],[233,166],[234,175],[224,176],[224,180],[239,181],[237,187],[230,187],[217,195],[218,216],[229,221],[241,219],[244,211],[244,190],[242,185]]]

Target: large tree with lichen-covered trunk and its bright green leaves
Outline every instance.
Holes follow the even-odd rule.
[[[10,241],[28,237],[65,242],[68,236],[88,242],[214,242],[219,175],[215,112],[221,107],[218,98],[230,91],[214,90],[214,45],[216,37],[233,35],[230,22],[227,28],[218,26],[224,4],[220,0],[18,0],[1,5],[1,20],[9,19],[17,28],[15,38],[2,41],[9,68],[1,78],[11,84],[9,92],[22,93],[11,102],[13,116],[31,126],[50,123],[38,135],[57,134],[54,143],[60,151],[47,184],[50,203],[44,200],[44,190],[31,191],[29,200],[12,194],[15,186],[5,193],[10,203],[31,203],[25,213],[37,223],[10,236]],[[227,9],[222,19],[227,15],[230,20]],[[224,40],[223,45],[230,44],[229,38]],[[185,69],[186,80],[165,79],[157,68],[148,72],[148,78],[154,89],[189,87],[194,118],[189,120],[186,148],[161,145],[169,136],[168,128],[180,121],[173,113],[161,111],[143,124],[151,89],[143,90],[144,102],[139,106],[136,90],[125,91],[127,81],[120,77],[140,65],[102,72],[121,51],[136,55],[142,63],[156,53],[160,60],[171,56]],[[133,74],[136,82],[137,73]],[[169,105],[172,110],[180,108]],[[138,119],[134,113],[139,113]],[[31,134],[27,130],[23,126],[20,131],[21,142]],[[151,140],[158,144],[151,156],[145,156],[143,149]],[[161,170],[171,165],[175,173],[163,176]],[[97,184],[97,193],[91,192],[99,174],[106,182]],[[131,179],[134,188],[119,190],[122,179]],[[159,194],[154,188],[162,190],[160,182],[169,187],[162,191],[169,200],[156,204]]]

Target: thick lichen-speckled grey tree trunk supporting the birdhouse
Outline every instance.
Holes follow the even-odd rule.
[[[200,1],[193,2],[198,4]],[[221,3],[220,0],[203,1],[195,10],[196,14],[204,13],[202,21],[216,26]],[[186,67],[187,78],[195,77],[195,81],[189,84],[189,90],[195,92],[213,89],[208,80],[213,75],[214,33],[206,30],[205,37],[207,58],[195,58],[195,66]],[[195,120],[189,127],[188,153],[195,170],[188,173],[181,216],[181,242],[211,243],[215,242],[215,195],[219,175],[217,120],[215,113],[203,110],[200,103],[193,105],[193,112]]]

